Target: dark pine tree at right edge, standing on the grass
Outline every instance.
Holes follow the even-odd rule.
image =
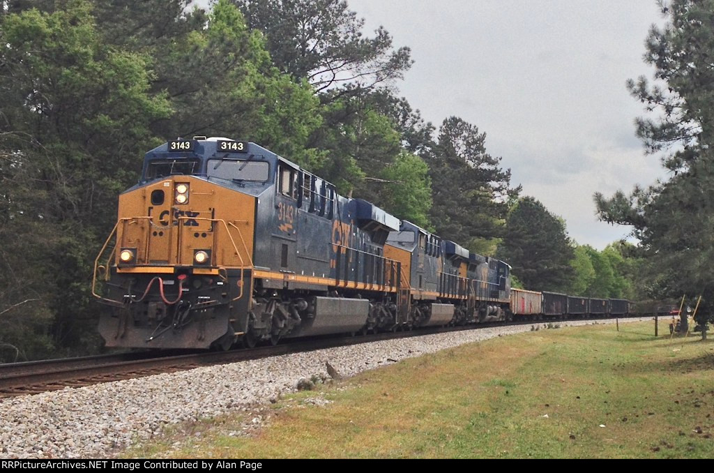
[[[650,153],[663,152],[670,179],[610,199],[595,194],[600,218],[633,227],[648,259],[650,295],[658,299],[704,294],[703,319],[714,302],[714,1],[662,4],[663,28],[653,26],[645,61],[655,66],[629,81],[630,92],[658,119],[637,119]]]

